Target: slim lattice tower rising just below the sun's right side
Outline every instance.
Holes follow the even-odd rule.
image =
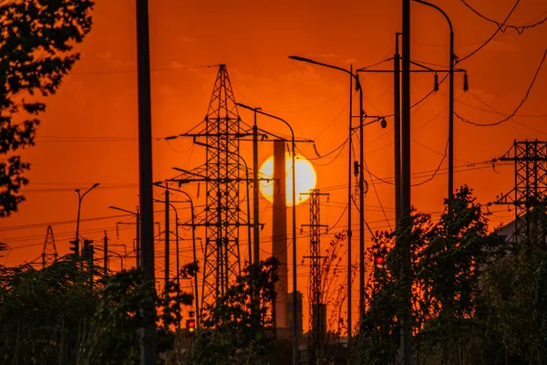
[[[311,334],[308,337],[308,363],[323,364],[324,359],[324,339],[326,332],[326,306],[323,298],[321,259],[321,227],[327,227],[321,224],[319,199],[322,195],[328,196],[328,193],[319,193],[319,189],[313,189],[310,193],[301,193],[301,195],[310,195],[310,224],[303,224],[310,228],[310,329]]]

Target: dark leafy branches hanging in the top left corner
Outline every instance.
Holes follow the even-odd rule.
[[[30,164],[15,151],[34,145],[43,98],[55,94],[91,29],[91,0],[0,3],[0,217],[24,201]]]

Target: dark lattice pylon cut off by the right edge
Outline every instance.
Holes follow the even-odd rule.
[[[515,187],[496,204],[515,206],[513,243],[545,244],[547,235],[547,142],[514,141],[500,161],[515,162]]]

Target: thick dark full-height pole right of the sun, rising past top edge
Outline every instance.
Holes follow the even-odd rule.
[[[401,216],[409,222],[410,216],[410,0],[403,0],[403,69],[401,92]],[[410,283],[408,273],[410,268],[410,242],[408,237],[400,240],[402,245],[402,272],[401,282],[405,287],[405,306],[400,317],[400,355],[403,365],[412,364],[412,328],[411,326],[411,302]]]

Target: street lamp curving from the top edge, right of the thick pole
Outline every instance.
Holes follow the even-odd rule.
[[[452,22],[450,22],[449,16],[437,5],[430,4],[423,0],[412,0],[419,4],[427,5],[437,9],[442,14],[450,28],[450,65],[449,65],[449,200],[452,199],[454,193],[454,63],[456,56],[454,55],[454,29],[452,28]]]

